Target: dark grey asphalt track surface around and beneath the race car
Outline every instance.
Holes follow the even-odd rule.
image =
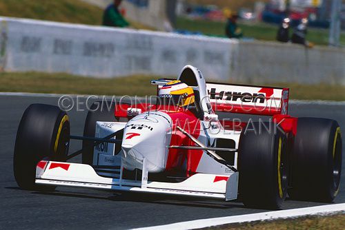
[[[21,115],[31,103],[57,105],[57,101],[58,98],[0,96],[0,229],[130,229],[266,211],[246,209],[240,202],[201,198],[115,194],[63,187],[52,193],[19,189],[12,172],[12,156]],[[69,114],[71,133],[82,134],[86,112],[74,109]],[[290,114],[333,118],[345,130],[345,103],[293,104]],[[71,150],[79,147],[79,143],[71,144]],[[343,159],[342,184],[335,203],[345,202],[344,162]],[[326,204],[286,200],[284,209],[316,205]]]

